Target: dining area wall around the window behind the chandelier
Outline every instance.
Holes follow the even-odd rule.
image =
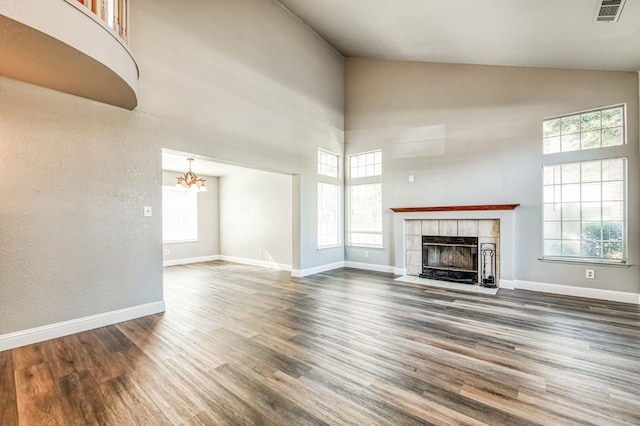
[[[184,176],[184,174],[163,170],[162,184],[174,186],[178,176]],[[163,244],[162,254],[165,261],[220,254],[218,178],[205,175],[198,175],[198,177],[207,181],[207,192],[198,193],[198,241]],[[167,250],[169,254],[166,254]]]

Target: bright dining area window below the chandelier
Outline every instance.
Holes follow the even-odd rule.
[[[198,239],[198,193],[162,187],[162,242]]]

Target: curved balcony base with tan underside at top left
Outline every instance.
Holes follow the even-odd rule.
[[[0,50],[0,75],[121,108],[137,105],[131,51],[81,5],[0,3]]]

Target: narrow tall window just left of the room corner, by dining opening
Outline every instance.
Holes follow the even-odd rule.
[[[318,150],[318,247],[340,244],[340,185],[336,154]]]

